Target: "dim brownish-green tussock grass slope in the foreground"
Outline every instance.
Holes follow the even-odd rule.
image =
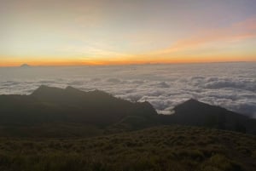
[[[253,171],[256,136],[163,126],[86,139],[0,139],[5,171]]]

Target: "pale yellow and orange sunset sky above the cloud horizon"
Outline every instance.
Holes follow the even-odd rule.
[[[0,66],[256,61],[255,0],[0,0]]]

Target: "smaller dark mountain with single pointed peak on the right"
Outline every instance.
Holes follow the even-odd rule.
[[[223,107],[187,100],[173,109],[172,116],[160,116],[165,124],[178,123],[256,134],[256,120]]]

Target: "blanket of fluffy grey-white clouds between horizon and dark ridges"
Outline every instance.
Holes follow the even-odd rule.
[[[149,101],[163,114],[194,98],[256,117],[256,63],[0,67],[0,94],[31,94],[40,85],[102,89]]]

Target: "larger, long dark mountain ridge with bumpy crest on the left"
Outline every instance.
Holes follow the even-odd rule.
[[[99,90],[40,86],[30,95],[0,95],[0,135],[82,135],[88,126],[102,132],[124,117],[156,115],[148,102],[132,103]]]

